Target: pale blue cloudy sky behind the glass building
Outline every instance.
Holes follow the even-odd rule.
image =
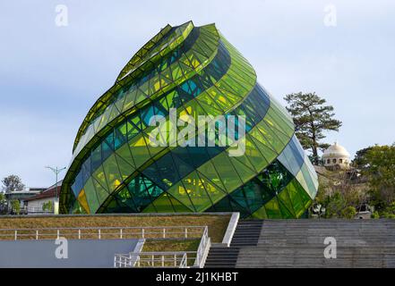
[[[67,8],[66,26],[56,21],[58,5]],[[3,0],[0,178],[54,184],[45,166],[70,163],[84,116],[125,63],[167,23],[190,20],[215,22],[283,104],[302,91],[333,105],[343,126],[326,142],[338,140],[352,156],[391,144],[394,19],[393,0]]]

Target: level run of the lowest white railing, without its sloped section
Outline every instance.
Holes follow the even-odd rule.
[[[186,268],[193,264],[196,251],[156,251],[130,254],[116,254],[116,268]],[[189,263],[188,263],[189,262]]]

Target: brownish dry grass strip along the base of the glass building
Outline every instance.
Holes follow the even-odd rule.
[[[209,236],[212,242],[221,242],[225,231],[228,227],[229,215],[212,215],[212,214],[180,214],[180,215],[51,215],[51,216],[35,216],[28,215],[21,216],[0,216],[0,229],[38,229],[38,228],[63,228],[63,227],[148,227],[148,226],[204,226],[209,227]],[[189,230],[188,230],[189,231]],[[86,234],[93,231],[85,231]],[[75,233],[75,231],[74,231]],[[96,233],[96,232],[95,232]],[[4,234],[4,231],[0,231]],[[67,238],[67,233],[61,233]],[[102,233],[102,238],[105,239],[105,233]],[[108,234],[110,235],[110,234]],[[119,234],[114,234],[116,236]],[[126,235],[125,235],[126,236]],[[127,236],[126,236],[127,237]],[[27,238],[27,237],[26,237]],[[75,237],[71,237],[75,238]],[[92,238],[83,236],[83,238]],[[109,237],[108,237],[109,238]],[[112,238],[112,237],[111,237]],[[0,238],[0,240],[13,240],[13,232],[10,232],[9,237]],[[34,239],[34,236],[30,237]],[[49,238],[48,239],[52,239]]]

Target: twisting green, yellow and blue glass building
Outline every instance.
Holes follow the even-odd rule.
[[[169,130],[180,130],[170,126],[173,108],[178,117],[245,116],[245,135],[236,134],[245,153],[229,156],[230,146],[219,144],[218,136],[214,146],[197,146],[195,139],[186,147],[152,146],[153,115],[166,118]],[[221,128],[228,131],[228,125]],[[161,29],[90,108],[74,142],[60,212],[236,211],[296,218],[317,188],[291,117],[259,85],[251,64],[214,24],[194,27],[189,21]]]

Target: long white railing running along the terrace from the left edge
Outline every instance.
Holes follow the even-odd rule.
[[[0,240],[199,239],[205,226],[0,229]]]

